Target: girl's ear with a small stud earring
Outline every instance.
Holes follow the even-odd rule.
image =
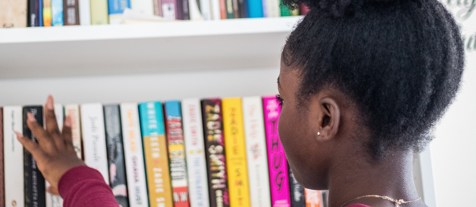
[[[315,132],[317,141],[328,141],[337,135],[340,121],[340,108],[330,97],[319,99],[318,126]]]

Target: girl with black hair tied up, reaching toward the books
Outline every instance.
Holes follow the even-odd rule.
[[[281,56],[279,136],[297,181],[329,190],[329,207],[425,207],[413,154],[459,89],[463,42],[437,0],[282,0],[309,13]],[[71,121],[32,142],[17,133],[65,207],[117,207],[98,171],[76,157]]]

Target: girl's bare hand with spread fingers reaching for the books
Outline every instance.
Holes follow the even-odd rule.
[[[59,195],[58,183],[63,174],[71,168],[86,164],[77,157],[74,151],[71,138],[71,118],[65,118],[63,130],[60,133],[53,106],[53,97],[48,96],[44,108],[46,129],[36,122],[31,113],[27,114],[28,127],[37,138],[38,143],[23,137],[19,132],[15,133],[20,143],[35,158],[43,177],[51,184],[50,193]]]

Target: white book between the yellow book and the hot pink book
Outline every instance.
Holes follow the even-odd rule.
[[[270,207],[268,158],[261,97],[243,98],[249,195],[252,207]]]

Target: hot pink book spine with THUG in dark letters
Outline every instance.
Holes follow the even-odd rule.
[[[278,135],[278,119],[281,107],[274,96],[263,97],[263,110],[272,207],[290,207],[288,162]]]

